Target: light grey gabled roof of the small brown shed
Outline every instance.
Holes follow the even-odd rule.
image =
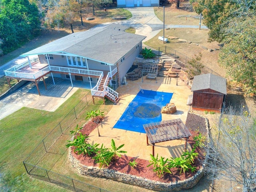
[[[191,91],[212,89],[227,94],[226,79],[211,73],[194,76]]]

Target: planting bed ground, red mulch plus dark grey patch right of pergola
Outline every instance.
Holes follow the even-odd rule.
[[[99,117],[98,117],[99,118]],[[188,114],[188,118],[186,121],[186,126],[190,129],[190,132],[192,133],[192,136],[189,137],[189,144],[193,146],[194,141],[193,137],[198,135],[198,130],[202,132],[203,134],[206,134],[206,126],[205,126],[205,119],[195,115],[195,114]],[[87,124],[83,126],[83,129],[80,130],[82,134],[89,135],[90,132],[92,132],[95,128],[97,127],[97,124],[89,121]],[[194,166],[196,169],[201,168],[201,163],[200,160],[203,159],[203,151],[200,150],[199,148],[196,149],[196,152],[199,153],[198,158],[194,160]],[[72,152],[72,154],[82,163],[87,166],[97,166],[95,161],[92,159],[90,156],[86,155],[77,155]],[[160,157],[159,157],[160,158]],[[131,166],[128,165],[128,163],[133,160],[136,160],[137,167],[132,168]],[[126,155],[122,155],[121,158],[117,158],[115,162],[112,162],[110,166],[108,167],[109,169],[116,170],[118,172],[126,173],[126,174],[132,174],[136,176],[140,176],[143,178],[147,178],[150,180],[155,180],[155,181],[160,181],[160,182],[177,182],[177,181],[182,181],[186,178],[189,178],[196,174],[196,172],[186,172],[180,174],[180,170],[177,168],[172,168],[171,172],[172,174],[165,174],[164,177],[158,177],[156,173],[152,171],[153,167],[147,167],[149,164],[148,160],[140,159],[140,158],[134,158],[134,157],[129,157]]]

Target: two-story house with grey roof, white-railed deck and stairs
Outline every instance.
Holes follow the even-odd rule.
[[[54,77],[69,79],[71,84],[74,80],[88,82],[93,97],[106,97],[116,103],[118,93],[110,87],[121,84],[146,38],[125,32],[127,28],[110,24],[69,34],[22,54],[28,62],[5,70],[6,78],[29,80],[37,88],[45,76],[52,76],[53,82]],[[30,60],[31,56],[36,57]]]

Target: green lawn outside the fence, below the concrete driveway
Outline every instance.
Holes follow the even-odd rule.
[[[0,120],[0,188],[8,186],[10,191],[36,191],[38,188],[42,189],[40,191],[63,190],[30,178],[22,161],[88,92],[89,90],[79,89],[55,112],[23,107]],[[91,105],[87,110],[100,108],[107,112],[110,105],[104,106],[102,102],[98,100],[99,104]],[[84,118],[76,121],[79,126],[85,122]],[[51,162],[51,159],[48,161]]]

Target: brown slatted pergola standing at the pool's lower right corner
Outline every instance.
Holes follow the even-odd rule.
[[[188,137],[192,134],[181,119],[154,122],[143,125],[148,142],[152,144],[152,154],[154,156],[154,146],[156,143],[186,138],[185,151],[187,150]]]

